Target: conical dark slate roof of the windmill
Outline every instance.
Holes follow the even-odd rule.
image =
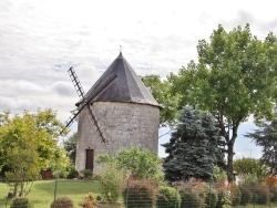
[[[143,84],[141,79],[136,75],[132,66],[124,59],[122,52],[102,74],[102,76],[95,82],[95,84],[90,89],[85,97],[91,97],[92,92],[113,73],[117,74],[117,80],[112,85],[110,85],[102,94],[95,97],[93,102],[130,102],[150,104],[161,107],[161,105],[158,105],[156,100]]]

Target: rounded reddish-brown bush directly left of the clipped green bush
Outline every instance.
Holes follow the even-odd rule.
[[[150,208],[156,201],[157,188],[150,180],[130,180],[122,195],[126,208]]]

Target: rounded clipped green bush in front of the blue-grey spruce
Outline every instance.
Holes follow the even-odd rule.
[[[157,208],[179,208],[181,196],[178,191],[168,186],[158,187],[158,194],[156,199]]]

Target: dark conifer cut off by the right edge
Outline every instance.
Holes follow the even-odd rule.
[[[270,175],[277,174],[277,121],[265,122],[263,127],[246,137],[253,138],[263,148],[260,163],[268,168]]]

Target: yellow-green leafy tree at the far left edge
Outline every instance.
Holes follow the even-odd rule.
[[[66,131],[51,110],[11,117],[9,112],[0,114],[0,160],[7,167],[7,179],[13,183],[13,194],[23,196],[28,181],[38,178],[42,168],[61,168],[66,163],[57,141]]]

